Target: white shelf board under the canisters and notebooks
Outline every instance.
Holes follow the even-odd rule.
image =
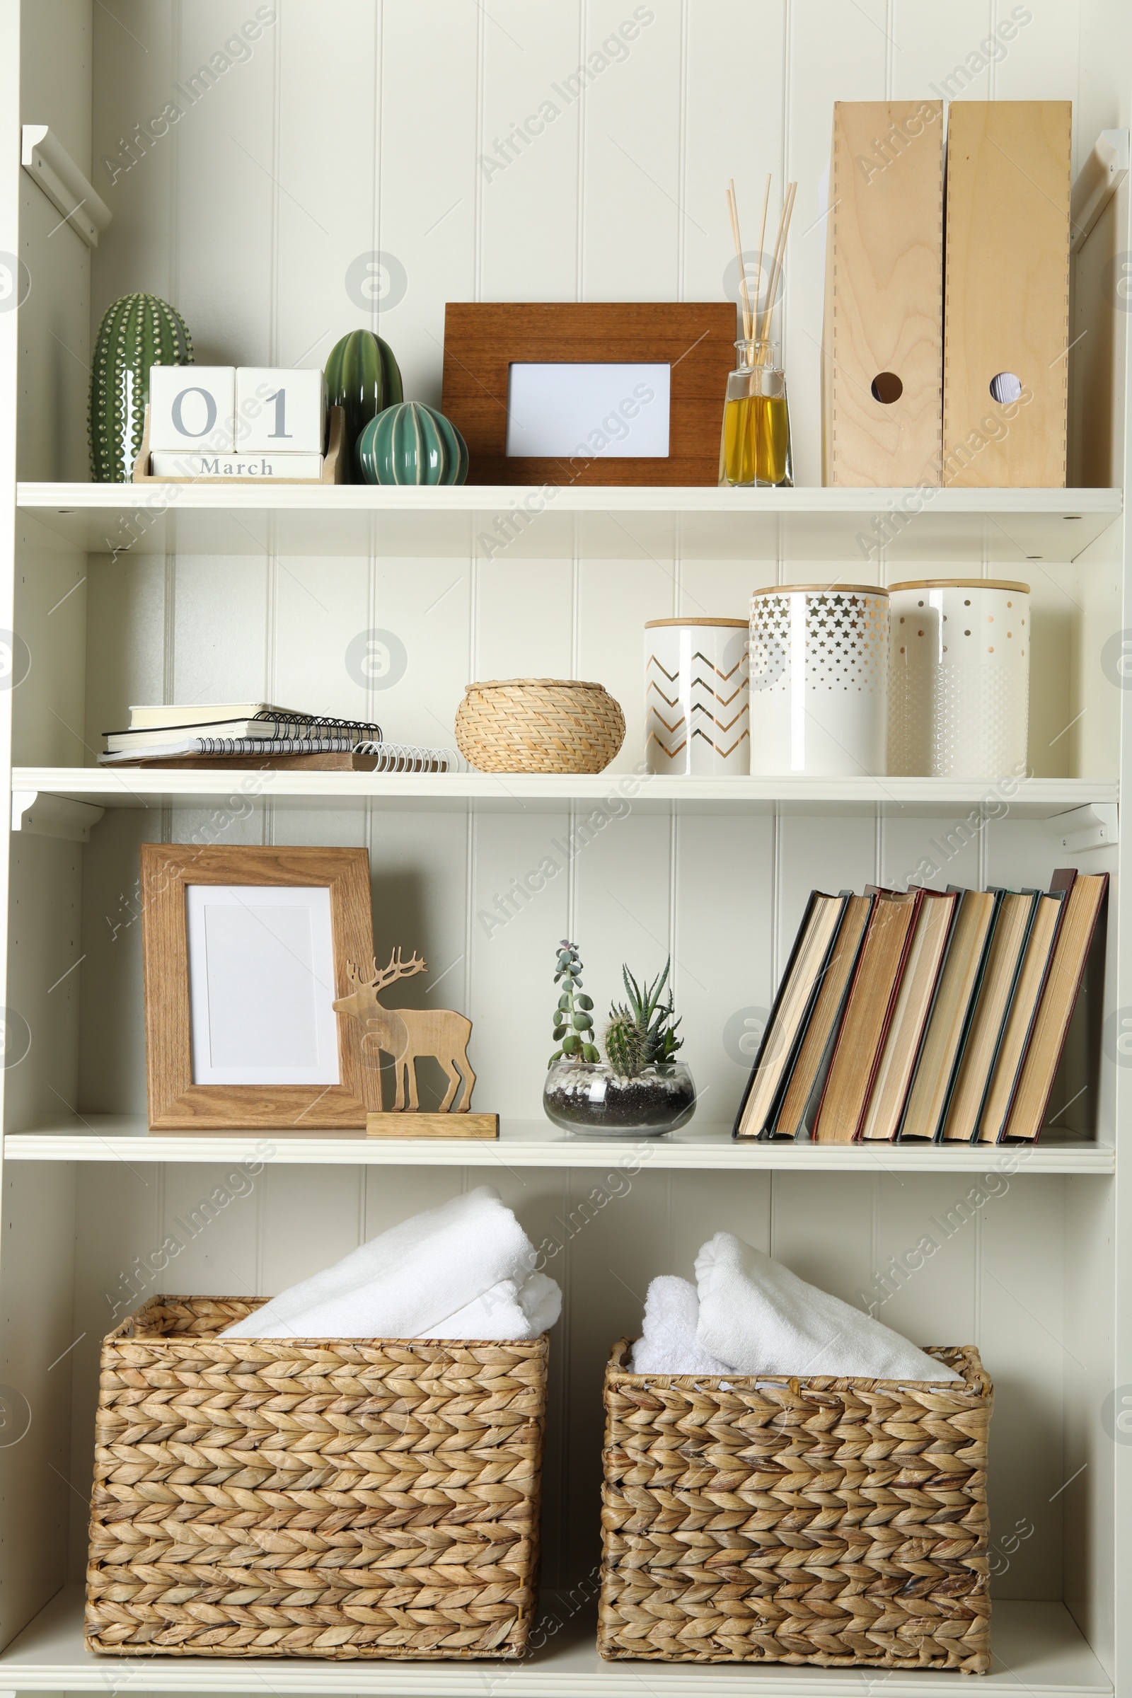
[[[222,807],[261,796],[277,807],[339,808],[345,798],[395,810],[465,808],[560,813],[570,803],[616,800],[616,812],[866,813],[886,818],[954,818],[995,800],[995,817],[1049,820],[1093,801],[1117,801],[1118,786],[1091,778],[1028,778],[1013,795],[986,778],[669,778],[496,773],[302,773],[161,767],[20,766],[12,790],[93,801],[102,808]]]

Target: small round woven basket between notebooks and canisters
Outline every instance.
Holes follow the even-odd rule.
[[[460,754],[480,773],[602,773],[623,742],[619,703],[580,679],[468,684],[457,708]]]

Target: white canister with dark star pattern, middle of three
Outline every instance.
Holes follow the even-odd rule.
[[[779,584],[750,598],[750,771],[876,778],[888,734],[888,591]]]

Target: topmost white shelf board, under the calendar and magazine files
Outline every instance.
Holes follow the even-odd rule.
[[[572,489],[19,484],[20,513],[93,554],[599,560],[1073,560],[1118,489]],[[864,538],[864,542],[862,542]],[[49,538],[48,538],[49,542]],[[843,567],[847,577],[854,571]]]

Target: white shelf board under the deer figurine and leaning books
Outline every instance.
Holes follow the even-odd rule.
[[[7,1133],[8,1161],[283,1161],[328,1167],[480,1168],[791,1168],[838,1173],[1113,1173],[1112,1144],[1045,1133],[1037,1144],[748,1143],[730,1126],[689,1126],[665,1138],[575,1138],[550,1121],[504,1121],[497,1141],[367,1138],[365,1133],[149,1133],[143,1116],[87,1114]],[[2,1683],[0,1683],[2,1684]]]

